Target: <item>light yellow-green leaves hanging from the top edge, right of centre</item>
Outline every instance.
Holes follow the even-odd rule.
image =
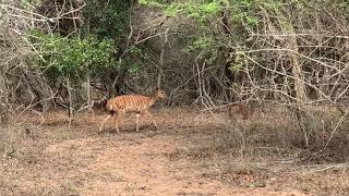
[[[304,8],[304,0],[174,0],[171,2],[159,0],[142,0],[141,4],[156,7],[163,10],[169,17],[188,17],[195,21],[194,35],[190,35],[191,40],[186,41],[184,52],[202,51],[208,58],[208,62],[221,58],[219,50],[231,47],[228,42],[233,42],[237,50],[243,52],[248,47],[250,32],[257,32],[263,24],[260,24],[263,12],[272,13],[277,19],[282,16],[282,9],[292,7],[294,9]],[[222,14],[228,17],[229,33],[224,33],[221,24]],[[282,17],[279,22],[284,22]],[[186,22],[184,22],[186,23]],[[281,25],[281,24],[280,24]],[[231,62],[231,70],[243,68],[245,61],[238,57]]]

